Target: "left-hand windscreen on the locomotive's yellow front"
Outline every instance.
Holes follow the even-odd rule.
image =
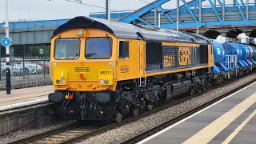
[[[80,55],[79,38],[57,38],[54,43],[55,59],[78,59]]]

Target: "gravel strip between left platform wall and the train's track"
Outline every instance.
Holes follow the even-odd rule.
[[[9,134],[2,135],[0,137],[0,143],[14,142],[14,141],[17,141],[18,139],[27,138],[27,137],[33,136],[35,134],[41,134],[41,133],[44,133],[49,130],[54,130],[58,127],[67,126],[71,122],[73,122],[73,121],[54,122],[51,125],[38,127],[36,129],[26,129],[26,130],[14,131]]]

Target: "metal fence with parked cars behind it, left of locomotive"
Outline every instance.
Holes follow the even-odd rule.
[[[43,51],[45,51],[45,47]],[[0,54],[1,54],[0,49]],[[20,50],[21,51],[21,50]],[[40,48],[38,49],[40,51]],[[43,53],[43,52],[42,52]],[[3,53],[1,55],[4,55]],[[20,56],[22,55],[22,56]],[[22,54],[10,50],[10,85],[11,89],[52,84],[50,79],[50,54],[30,54],[24,50]],[[6,57],[0,56],[0,90],[6,90]]]

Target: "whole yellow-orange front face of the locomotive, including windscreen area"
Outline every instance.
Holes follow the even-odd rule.
[[[83,34],[78,35],[78,32],[81,30],[83,31]],[[86,42],[89,43],[88,39],[94,40],[94,38],[108,38],[111,40],[110,58],[94,58],[89,56],[86,58],[86,54],[89,53],[86,50],[90,50],[91,47],[91,49],[94,48],[94,45],[87,46]],[[72,45],[73,39],[75,42],[79,42],[79,44],[74,43]],[[63,42],[66,45],[64,45]],[[95,29],[68,30],[62,34],[54,36],[54,38],[52,38],[50,58],[50,70],[54,90],[114,91],[117,84],[115,81],[116,74],[114,63],[116,57],[116,51],[114,49],[115,42],[116,39],[112,34]],[[79,46],[79,50],[75,48],[76,45]],[[66,56],[68,53],[73,54],[73,49],[78,51],[78,54],[76,55],[77,58]],[[102,47],[102,49],[104,49],[104,47]],[[91,55],[93,55],[93,53]]]

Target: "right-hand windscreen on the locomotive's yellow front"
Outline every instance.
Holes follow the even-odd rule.
[[[87,59],[107,59],[112,55],[112,39],[87,38],[86,39],[86,58]]]

